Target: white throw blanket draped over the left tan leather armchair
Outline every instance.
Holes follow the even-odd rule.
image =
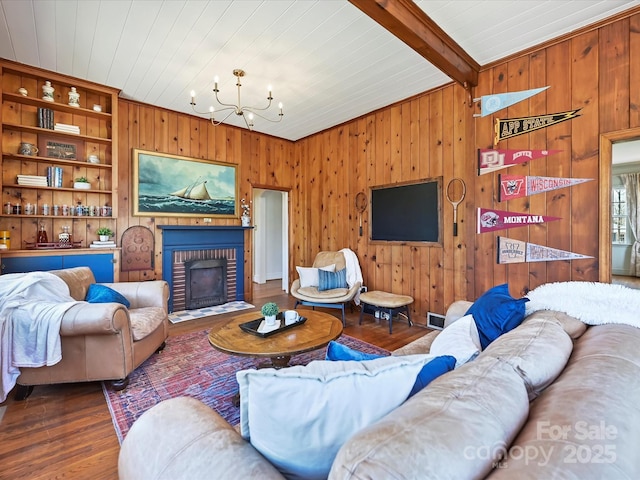
[[[64,280],[52,273],[0,276],[0,402],[16,384],[19,367],[62,359],[60,324],[77,303]]]

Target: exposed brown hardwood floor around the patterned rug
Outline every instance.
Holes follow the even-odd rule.
[[[279,280],[254,284],[252,303],[259,308],[268,300],[281,308],[295,305],[293,297],[280,289]],[[340,316],[339,310],[326,311]],[[366,315],[358,325],[359,310],[347,312],[345,334],[387,350],[429,332],[423,326],[409,327],[397,320],[389,335],[386,320]],[[232,315],[171,325],[170,336],[209,329]],[[25,401],[15,401],[12,393],[0,404],[0,480],[117,479],[119,451],[100,382],[38,386]]]

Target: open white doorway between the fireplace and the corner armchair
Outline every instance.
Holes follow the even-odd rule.
[[[253,293],[289,292],[289,193],[253,189]]]

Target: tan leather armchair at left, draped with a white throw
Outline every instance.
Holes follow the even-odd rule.
[[[53,270],[71,296],[84,300],[95,282],[88,267]],[[111,380],[121,390],[128,375],[154,352],[164,347],[169,334],[169,287],[163,280],[103,283],[131,303],[79,303],[62,318],[62,360],[55,365],[21,368],[15,398],[29,396],[34,385]]]

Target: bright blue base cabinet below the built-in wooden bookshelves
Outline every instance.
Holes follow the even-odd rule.
[[[76,255],[34,255],[28,257],[7,256],[5,253],[2,254],[3,274],[89,267],[93,272],[93,276],[96,278],[96,282],[99,283],[110,283],[114,281],[113,264],[113,252]]]

